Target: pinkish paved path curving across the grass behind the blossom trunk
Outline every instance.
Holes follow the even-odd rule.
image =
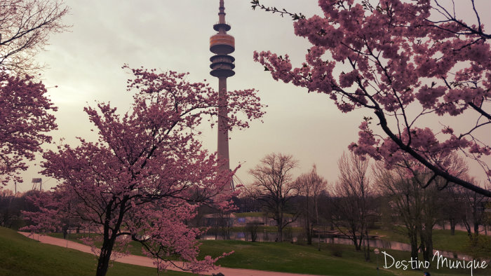
[[[19,232],[26,237],[30,237],[34,240],[39,240],[39,242],[58,245],[59,247],[67,247],[79,251],[83,251],[89,254],[94,254],[92,249],[79,242],[72,242],[65,239],[60,239],[58,237],[51,237],[46,235],[38,235],[27,232]],[[152,258],[136,255],[127,255],[121,258],[117,258],[116,261],[120,263],[129,263],[130,265],[143,265],[150,268],[155,268],[154,260]],[[169,270],[182,271],[178,268],[168,268]],[[222,272],[225,276],[312,276],[307,274],[296,274],[296,273],[285,273],[285,272],[274,272],[274,271],[264,271],[264,270],[252,270],[252,269],[242,269],[242,268],[218,268],[217,270],[210,270],[206,272],[206,275],[212,275],[212,273]]]

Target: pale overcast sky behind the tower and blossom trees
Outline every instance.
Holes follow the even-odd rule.
[[[263,0],[305,15],[321,14],[315,0]],[[457,1],[457,4],[462,1]],[[61,137],[75,144],[74,137],[90,137],[92,127],[83,106],[95,101],[112,102],[121,113],[128,111],[132,95],[126,92],[128,71],[121,66],[156,68],[161,71],[189,72],[189,81],[206,79],[212,53],[209,37],[215,34],[218,0],[65,0],[71,11],[64,20],[69,32],[51,36],[51,45],[36,60],[46,63],[43,82],[56,106]],[[491,1],[481,0],[485,24],[491,25]],[[469,6],[467,6],[469,7]],[[464,11],[465,7],[457,11]],[[309,43],[293,34],[292,20],[264,11],[253,11],[250,0],[225,0],[229,34],[236,39],[236,75],[229,78],[229,90],[256,88],[267,104],[264,123],[254,122],[247,130],[231,132],[231,167],[242,163],[238,178],[247,184],[248,170],[268,153],[292,154],[300,160],[295,174],[307,172],[316,164],[318,172],[331,183],[337,179],[337,159],[347,146],[358,139],[358,125],[370,112],[341,113],[326,95],[311,93],[291,84],[278,83],[269,72],[253,62],[254,50],[288,53],[292,62],[304,61]],[[58,85],[58,88],[54,88]],[[216,151],[216,129],[203,125],[203,144]],[[489,131],[486,132],[488,135]],[[31,179],[40,177],[39,166],[22,174],[18,191],[32,187]],[[478,174],[478,171],[476,171]],[[43,177],[43,188],[56,184]],[[9,186],[9,188],[13,188]]]

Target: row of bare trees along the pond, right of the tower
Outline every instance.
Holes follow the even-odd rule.
[[[457,154],[446,158],[456,175],[483,186],[468,176],[463,158]],[[407,237],[413,258],[422,252],[429,261],[433,256],[433,230],[449,226],[451,235],[455,235],[459,224],[466,229],[471,245],[483,245],[478,244],[478,236],[487,231],[480,226],[490,223],[485,213],[490,201],[432,177],[429,170],[415,173],[415,163],[401,162],[389,169],[384,163],[369,163],[353,153],[344,153],[338,161],[338,179],[332,184],[318,175],[315,165],[295,179],[291,171],[297,165],[292,156],[265,156],[250,170],[255,181],[235,200],[237,212],[264,212],[275,221],[278,241],[283,240],[283,229],[292,222],[302,226],[307,244],[327,228],[349,238],[369,261],[370,230],[386,228]],[[288,219],[285,214],[290,215]]]

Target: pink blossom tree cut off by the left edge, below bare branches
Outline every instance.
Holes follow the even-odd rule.
[[[41,144],[51,142],[56,111],[43,83],[32,76],[12,76],[0,71],[0,186],[22,182],[25,160],[34,160]]]

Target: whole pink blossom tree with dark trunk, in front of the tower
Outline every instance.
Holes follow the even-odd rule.
[[[97,142],[79,138],[79,146],[47,151],[43,174],[60,180],[55,191],[70,198],[72,215],[100,230],[97,275],[106,274],[116,247],[129,240],[140,242],[159,269],[213,268],[217,258],[196,259],[201,230],[185,221],[200,205],[231,207],[234,193],[221,191],[235,171],[220,170],[224,160],[196,139],[203,118],[216,121],[218,92],[186,81],[187,74],[131,71],[128,91],[138,92],[130,111],[119,114],[107,103],[86,107]],[[229,130],[248,127],[248,120],[263,115],[254,90],[228,92],[225,104]],[[247,119],[241,119],[242,112]],[[184,263],[171,261],[176,258]]]

